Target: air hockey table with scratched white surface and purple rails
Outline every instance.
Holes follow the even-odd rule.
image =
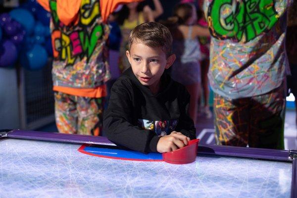
[[[177,165],[82,152],[90,144],[115,148],[104,137],[0,131],[0,198],[297,197],[295,151],[199,145],[195,162]]]

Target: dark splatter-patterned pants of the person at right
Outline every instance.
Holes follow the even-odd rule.
[[[218,145],[284,149],[285,89],[251,98],[214,96]]]

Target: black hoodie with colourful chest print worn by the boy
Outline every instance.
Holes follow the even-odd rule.
[[[172,131],[196,139],[194,122],[188,114],[189,93],[166,72],[160,83],[159,93],[153,95],[138,81],[131,67],[117,79],[103,120],[103,130],[110,141],[132,150],[156,152],[160,135]]]

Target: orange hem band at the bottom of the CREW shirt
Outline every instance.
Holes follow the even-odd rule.
[[[106,85],[101,85],[97,88],[72,88],[53,86],[53,91],[62,92],[69,95],[89,97],[89,98],[101,98],[107,95]]]

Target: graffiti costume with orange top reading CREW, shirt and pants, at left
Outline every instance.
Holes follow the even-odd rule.
[[[102,105],[93,108],[91,101],[106,96],[105,82],[110,77],[105,48],[109,34],[106,20],[119,3],[131,1],[38,0],[51,14],[52,81],[56,92],[55,115],[59,132],[99,135],[100,132],[93,133],[99,129],[92,126],[98,126],[95,122],[101,119]],[[72,100],[74,96],[79,99]],[[68,100],[73,102],[69,108],[61,105]],[[81,104],[80,101],[90,103]],[[93,112],[96,116],[80,117],[83,114],[80,107],[88,105],[97,109]],[[85,126],[90,130],[81,132],[77,130],[78,121],[73,120],[86,117],[97,121],[86,122],[85,125],[92,123],[92,126]]]

